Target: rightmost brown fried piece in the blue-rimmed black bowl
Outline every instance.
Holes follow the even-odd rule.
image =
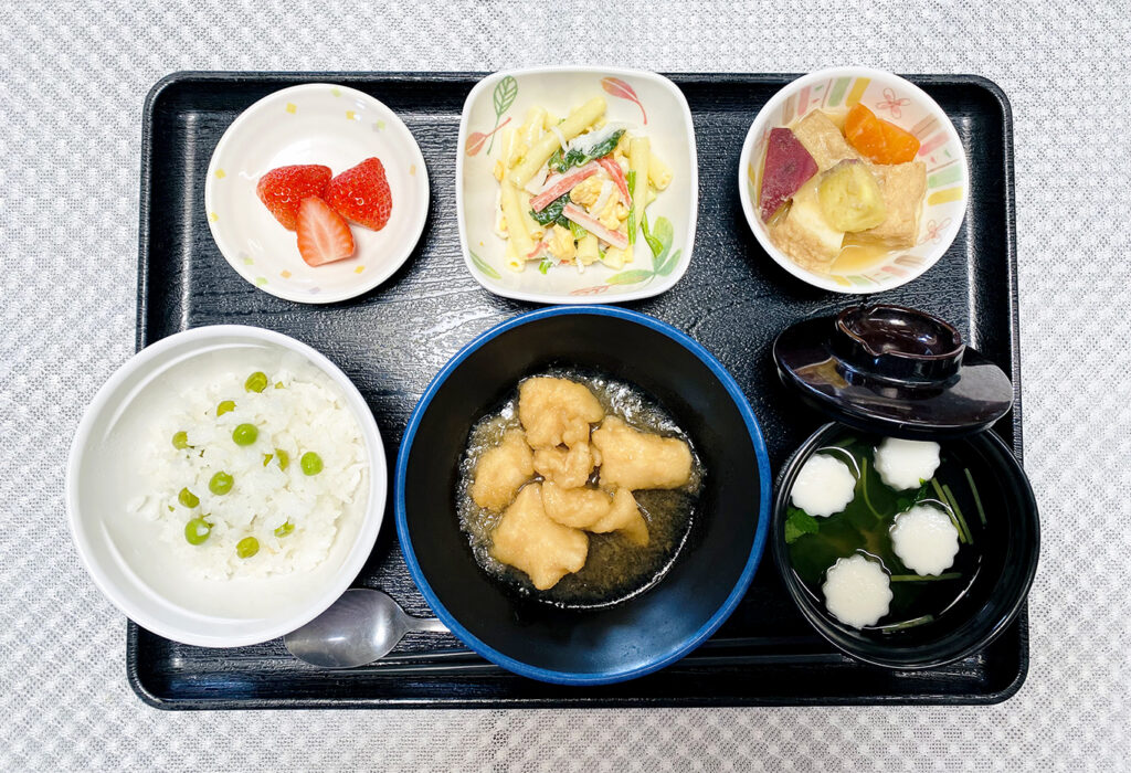
[[[679,488],[691,480],[691,449],[679,437],[638,432],[615,416],[593,432],[602,488]]]

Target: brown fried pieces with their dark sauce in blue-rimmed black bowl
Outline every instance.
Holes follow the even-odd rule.
[[[521,381],[472,431],[460,522],[491,574],[561,605],[601,605],[662,576],[690,528],[702,470],[688,437],[624,383]]]

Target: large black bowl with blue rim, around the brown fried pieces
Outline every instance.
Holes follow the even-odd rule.
[[[568,609],[515,593],[476,563],[456,513],[472,426],[523,377],[562,366],[644,389],[706,468],[689,538],[658,582],[621,603]],[[397,535],[432,610],[475,652],[543,681],[610,684],[679,660],[731,615],[766,546],[770,488],[758,420],[709,351],[646,314],[554,306],[481,335],[429,384],[397,460]]]

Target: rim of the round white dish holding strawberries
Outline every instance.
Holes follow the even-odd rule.
[[[373,111],[373,115],[380,116],[380,121],[385,124],[383,129],[387,129],[385,133],[391,138],[388,142],[397,146],[400,151],[411,159],[412,166],[414,167],[414,171],[411,174],[412,176],[417,177],[420,183],[415,186],[413,196],[406,197],[406,200],[398,200],[397,202],[399,206],[398,211],[402,212],[398,217],[411,220],[405,232],[406,238],[389,253],[388,260],[383,261],[383,266],[380,266],[372,271],[359,272],[356,279],[351,280],[345,287],[338,289],[337,292],[320,293],[317,288],[314,290],[295,289],[288,287],[286,284],[261,283],[257,280],[257,272],[250,271],[244,261],[241,260],[240,246],[232,241],[226,228],[221,227],[216,217],[214,217],[216,205],[213,199],[217,181],[216,170],[218,168],[218,164],[222,159],[225,158],[225,153],[227,153],[228,146],[239,142],[241,134],[254,129],[257,124],[267,120],[267,112],[274,106],[280,103],[287,105],[291,101],[301,99],[308,94],[321,95],[321,93],[326,90],[329,90],[336,97],[346,96],[351,99],[364,103],[368,110]],[[329,131],[330,130],[327,129],[322,133],[329,133]],[[312,158],[304,163],[321,162],[317,158]],[[345,170],[335,168],[334,173],[338,174],[343,171]],[[224,260],[227,261],[227,264],[232,267],[232,270],[234,270],[242,279],[256,287],[256,289],[260,289],[269,295],[274,295],[277,298],[283,298],[284,301],[321,305],[349,301],[359,295],[369,293],[375,287],[385,284],[398,270],[400,270],[400,268],[408,261],[413,252],[416,250],[416,245],[420,243],[421,236],[424,234],[424,226],[428,223],[431,197],[431,183],[429,180],[428,164],[424,160],[424,154],[421,153],[420,144],[416,141],[416,137],[400,119],[400,116],[375,96],[366,94],[359,88],[328,80],[317,80],[276,89],[270,94],[256,99],[256,102],[250,104],[243,110],[243,112],[235,116],[232,123],[224,130],[224,133],[221,136],[219,141],[213,149],[211,156],[208,160],[208,172],[205,177],[204,207],[206,215],[205,219],[208,223],[208,229],[211,233],[213,241],[216,243],[216,247],[219,250]],[[364,236],[359,236],[360,232],[364,233],[363,229],[354,227],[353,225],[351,225],[351,229],[354,233],[355,241],[364,238]],[[295,255],[297,255],[297,251],[295,251]],[[360,268],[365,267],[363,266]]]

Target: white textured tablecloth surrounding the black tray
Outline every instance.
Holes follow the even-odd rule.
[[[0,770],[1126,770],[1131,7],[228,0],[0,6]],[[826,9],[835,6],[835,9]],[[549,31],[549,34],[547,34]],[[991,707],[205,712],[145,706],[71,547],[83,406],[133,350],[141,106],[181,69],[553,61],[974,72],[1013,105],[1031,665]]]

